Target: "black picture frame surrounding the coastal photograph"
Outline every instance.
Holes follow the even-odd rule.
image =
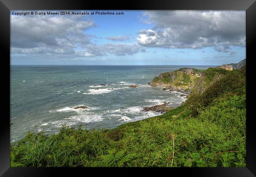
[[[2,109],[2,128],[0,134],[0,175],[7,176],[52,176],[70,175],[76,176],[77,173],[89,175],[100,175],[102,171],[109,175],[127,175],[129,173],[167,174],[182,176],[207,176],[207,177],[236,177],[236,176],[255,176],[256,175],[256,138],[254,136],[254,105],[255,94],[253,89],[253,76],[255,60],[254,44],[256,41],[256,2],[255,0],[132,0],[132,1],[78,1],[78,0],[0,0],[0,46],[2,48],[2,82],[4,91],[2,94],[10,93],[7,89],[10,74],[10,11],[11,10],[56,10],[56,9],[116,9],[116,10],[244,10],[246,11],[246,58],[247,58],[247,165],[246,168],[10,168],[10,126],[8,109]],[[10,77],[9,77],[10,78]],[[9,97],[10,98],[10,97]],[[4,107],[10,103],[10,99],[3,101]],[[109,171],[111,170],[111,171]],[[167,173],[163,173],[167,172]],[[122,171],[122,172],[121,172]],[[119,173],[120,172],[120,173]]]

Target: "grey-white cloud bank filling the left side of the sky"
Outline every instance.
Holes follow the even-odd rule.
[[[108,53],[133,55],[145,52],[145,49],[136,43],[110,43],[101,46],[93,44],[91,39],[97,37],[85,32],[95,27],[95,22],[83,16],[11,15],[11,53],[74,58],[107,56]],[[115,36],[108,39],[128,41],[129,37]]]

